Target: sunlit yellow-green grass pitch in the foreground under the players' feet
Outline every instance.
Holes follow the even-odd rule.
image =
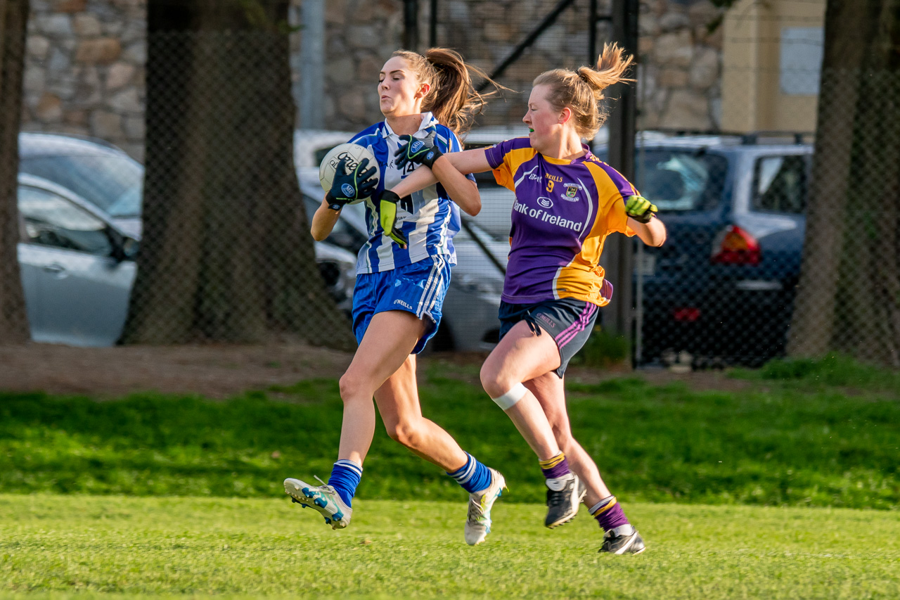
[[[332,532],[286,498],[2,495],[0,594],[900,596],[894,512],[635,504],[648,550],[611,557],[592,520],[551,532],[544,510],[500,501],[468,547],[463,502],[360,501]]]

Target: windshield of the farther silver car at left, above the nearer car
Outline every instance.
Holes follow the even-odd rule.
[[[127,156],[32,156],[19,170],[66,187],[113,217],[140,215],[144,168]]]

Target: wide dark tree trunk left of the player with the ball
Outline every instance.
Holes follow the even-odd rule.
[[[128,343],[349,348],[293,167],[288,0],[150,0],[144,236]]]

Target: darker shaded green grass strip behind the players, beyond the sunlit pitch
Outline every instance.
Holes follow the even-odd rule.
[[[741,392],[571,384],[572,427],[630,502],[900,507],[895,376],[827,367],[825,376],[843,369],[858,385],[797,367],[739,374],[757,379]],[[503,471],[516,487],[510,502],[543,502],[534,455],[509,419],[450,375],[422,374],[423,412]],[[0,493],[277,497],[284,477],[328,477],[341,410],[332,380],[224,402],[0,394]],[[359,495],[452,500],[458,488],[379,428]]]

